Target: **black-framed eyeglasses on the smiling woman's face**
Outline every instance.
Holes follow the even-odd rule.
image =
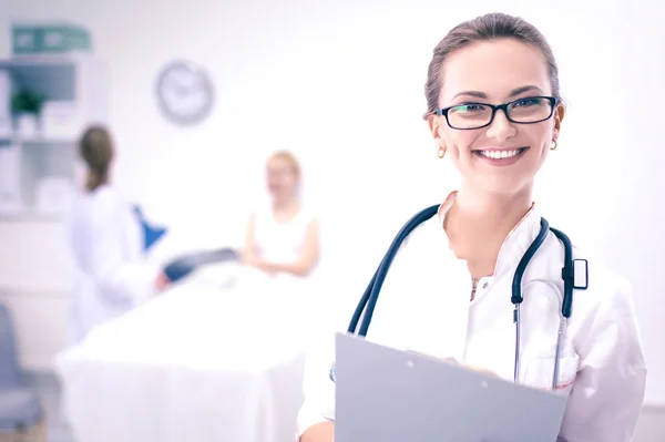
[[[464,102],[443,107],[422,115],[443,115],[448,125],[460,131],[487,127],[494,121],[497,111],[501,110],[505,117],[518,124],[534,124],[550,120],[554,114],[557,100],[553,96],[525,96],[503,104]]]

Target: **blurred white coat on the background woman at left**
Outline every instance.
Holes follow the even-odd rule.
[[[111,186],[73,205],[69,239],[75,263],[70,343],[154,295],[160,268],[144,259],[144,237],[132,207]]]

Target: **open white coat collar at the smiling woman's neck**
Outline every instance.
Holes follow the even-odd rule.
[[[439,206],[439,225],[442,230],[446,215],[454,204],[457,194],[457,191],[451,192],[446,201]],[[533,239],[538,236],[540,232],[540,222],[541,216],[535,209],[535,204],[532,204],[529,212],[503,240],[503,244],[499,249],[494,275],[492,275],[492,277],[509,271],[509,269],[512,269],[518,265],[520,259],[522,259],[522,256],[526,253],[526,249],[533,243]],[[446,230],[443,230],[443,235],[450,247],[450,240],[448,239],[448,235],[446,235]]]

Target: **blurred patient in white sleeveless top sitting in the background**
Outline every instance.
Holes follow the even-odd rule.
[[[242,260],[270,276],[308,276],[319,260],[319,223],[300,202],[300,166],[289,152],[266,165],[272,204],[252,214]]]

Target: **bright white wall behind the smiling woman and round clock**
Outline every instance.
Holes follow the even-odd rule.
[[[63,18],[93,30],[111,74],[116,183],[182,244],[236,240],[248,202],[263,191],[263,158],[294,150],[326,223],[328,263],[346,273],[334,289],[345,307],[401,223],[453,179],[419,117],[431,50],[451,25],[497,9],[489,0],[454,8],[437,0],[9,1],[13,18]],[[665,403],[657,204],[665,9],[655,0],[502,4],[548,35],[570,103],[539,205],[575,244],[632,279],[647,402]],[[155,105],[156,74],[174,58],[214,78],[217,105],[200,127],[171,126]]]

